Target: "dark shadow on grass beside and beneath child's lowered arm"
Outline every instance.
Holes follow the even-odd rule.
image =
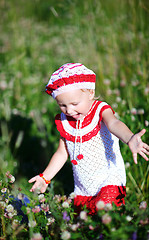
[[[46,145],[43,145],[43,139],[33,135],[32,124],[32,119],[22,117],[21,115],[12,115],[8,122],[8,130],[11,135],[10,149],[18,163],[16,175],[18,179],[21,177],[30,179],[42,173],[54,153],[54,143],[44,139]],[[23,137],[20,139],[19,146],[16,147],[20,133],[23,133]],[[69,162],[54,177],[54,182],[54,191],[56,194],[67,195],[73,191],[73,174]]]

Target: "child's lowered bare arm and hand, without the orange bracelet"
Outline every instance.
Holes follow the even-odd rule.
[[[66,144],[62,138],[60,138],[59,146],[57,151],[53,154],[48,166],[43,172],[44,178],[46,180],[51,180],[58,171],[63,167],[65,162],[68,158],[68,152],[66,149]],[[40,189],[41,192],[45,192],[47,188],[47,184],[45,181],[39,176],[35,176],[29,180],[29,183],[35,182],[32,188],[30,189],[31,192],[34,192],[35,189]]]

